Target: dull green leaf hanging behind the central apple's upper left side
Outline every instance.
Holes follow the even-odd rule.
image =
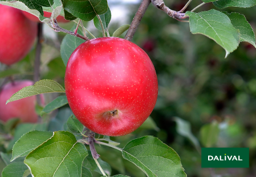
[[[73,31],[75,28],[76,25],[74,25],[70,31]],[[78,33],[82,34],[80,29],[78,29]],[[62,44],[60,45],[60,55],[62,56],[62,60],[65,66],[67,66],[68,59],[70,59],[70,56],[74,52],[74,50],[84,42],[85,41],[83,39],[72,35],[66,35],[63,38]]]

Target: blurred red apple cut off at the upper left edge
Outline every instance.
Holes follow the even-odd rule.
[[[0,62],[12,65],[30,52],[37,24],[14,7],[0,5],[0,12]]]

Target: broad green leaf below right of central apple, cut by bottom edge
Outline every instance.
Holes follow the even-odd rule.
[[[128,142],[123,157],[149,177],[186,176],[176,151],[156,137],[145,136]]]

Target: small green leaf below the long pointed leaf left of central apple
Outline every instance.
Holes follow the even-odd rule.
[[[51,103],[47,104],[46,107],[43,108],[40,115],[44,115],[44,113],[50,113],[55,109],[58,109],[64,105],[68,104],[67,96],[58,96],[58,98],[54,99]]]

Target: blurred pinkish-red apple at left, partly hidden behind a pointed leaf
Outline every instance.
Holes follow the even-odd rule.
[[[24,80],[14,81],[13,83],[10,82],[2,87],[0,91],[0,120],[7,121],[11,118],[20,118],[22,122],[26,123],[37,122],[38,115],[36,115],[35,112],[35,95],[6,104],[6,101],[15,94],[15,92],[31,85],[34,85],[34,82]],[[44,102],[43,96],[41,99]]]

